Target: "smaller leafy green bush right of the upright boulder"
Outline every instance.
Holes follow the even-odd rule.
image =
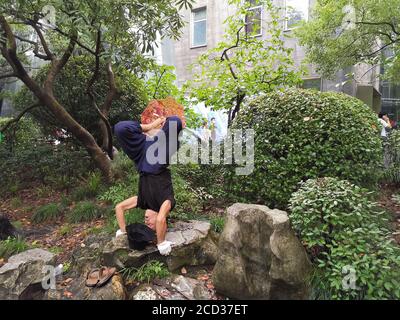
[[[290,218],[316,268],[316,298],[400,298],[400,248],[368,195],[335,178],[308,180],[292,195]],[[356,282],[346,290],[350,270]]]

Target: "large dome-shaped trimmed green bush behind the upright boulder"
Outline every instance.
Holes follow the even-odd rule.
[[[225,181],[249,201],[284,209],[300,181],[332,176],[371,186],[379,177],[377,116],[345,94],[291,89],[259,96],[232,128],[255,130],[254,172],[238,176],[232,169]]]

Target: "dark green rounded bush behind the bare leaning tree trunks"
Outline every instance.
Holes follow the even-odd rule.
[[[94,59],[88,56],[76,56],[72,58],[61,71],[54,86],[54,94],[65,109],[82,126],[89,130],[95,138],[100,140],[99,116],[92,107],[88,94],[85,91],[87,84],[93,75]],[[35,76],[35,80],[43,83],[49,70],[49,65],[41,68]],[[104,101],[108,93],[108,79],[104,64],[101,65],[99,80],[95,85],[97,99]],[[115,67],[118,96],[113,101],[109,114],[109,121],[115,124],[121,120],[139,119],[140,113],[147,104],[147,95],[143,81],[126,69]],[[83,87],[82,87],[83,84]],[[23,88],[14,99],[14,106],[22,110],[34,101],[33,94],[28,88]],[[43,131],[54,136],[57,128],[63,128],[54,115],[47,108],[36,108],[31,114],[41,124]],[[67,139],[68,141],[68,139]]]

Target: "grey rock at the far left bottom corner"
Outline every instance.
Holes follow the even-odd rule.
[[[19,299],[28,287],[42,282],[46,276],[43,267],[54,263],[55,255],[43,249],[12,256],[0,269],[0,299]]]

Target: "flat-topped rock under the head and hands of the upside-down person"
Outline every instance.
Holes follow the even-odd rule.
[[[214,264],[218,258],[217,235],[208,222],[177,222],[168,229],[166,240],[174,245],[170,255],[162,256],[154,245],[136,251],[129,248],[126,236],[114,238],[103,249],[102,264],[120,269],[138,268],[148,261],[158,260],[174,271],[184,265]]]

